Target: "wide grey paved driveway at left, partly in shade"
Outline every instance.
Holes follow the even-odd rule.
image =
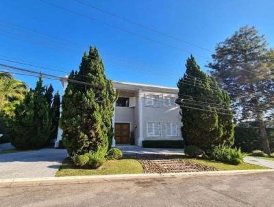
[[[55,176],[66,149],[40,149],[0,154],[0,179]]]

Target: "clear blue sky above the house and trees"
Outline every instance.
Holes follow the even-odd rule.
[[[163,86],[176,86],[177,80],[184,74],[184,64],[190,53],[203,70],[206,70],[205,65],[210,61],[211,53],[206,50],[150,32],[76,1],[45,1],[97,19],[100,23],[38,0],[1,0],[0,58],[7,56],[69,73],[71,69],[78,69],[89,45],[96,45],[111,80]],[[269,47],[274,47],[272,0],[82,1],[210,51],[214,51],[217,42],[231,36],[244,25],[257,27],[260,34],[265,34]],[[171,47],[122,32],[101,22]],[[66,75],[4,60],[0,62],[58,76]],[[35,86],[36,77],[16,77],[29,86]],[[56,90],[62,91],[60,82],[45,80],[45,83],[52,83]]]

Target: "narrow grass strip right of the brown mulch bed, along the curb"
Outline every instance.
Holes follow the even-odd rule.
[[[241,164],[241,165],[229,165],[225,162],[217,162],[212,160],[200,160],[200,159],[189,159],[190,162],[196,162],[201,165],[207,165],[210,167],[216,167],[216,169],[219,169],[221,171],[232,171],[232,170],[247,170],[247,169],[268,169],[267,167],[261,167],[258,165],[250,165],[250,164]]]

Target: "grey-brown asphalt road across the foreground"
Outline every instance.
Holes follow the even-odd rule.
[[[0,206],[274,206],[274,173],[0,188]]]

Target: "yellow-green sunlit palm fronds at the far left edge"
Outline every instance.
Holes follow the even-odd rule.
[[[24,98],[27,84],[14,79],[10,73],[0,72],[0,112],[12,110],[14,101]]]

